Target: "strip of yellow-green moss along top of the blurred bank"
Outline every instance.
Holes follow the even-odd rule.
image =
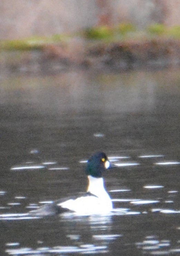
[[[34,36],[18,40],[0,40],[2,50],[41,50],[44,45],[68,44],[73,37],[80,37],[89,42],[117,43],[128,41],[142,41],[154,39],[180,39],[180,26],[166,27],[163,24],[152,24],[143,30],[130,23],[121,23],[117,26],[99,26],[84,29],[83,31],[64,35],[58,34],[49,37]]]

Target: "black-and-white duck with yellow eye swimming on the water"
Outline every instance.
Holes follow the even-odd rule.
[[[94,153],[87,161],[85,173],[88,178],[86,193],[61,198],[30,212],[31,215],[46,216],[70,212],[78,215],[106,215],[112,209],[111,198],[102,177],[104,171],[116,167],[104,152]]]

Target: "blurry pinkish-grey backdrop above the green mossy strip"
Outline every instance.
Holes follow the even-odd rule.
[[[0,3],[0,39],[49,36],[83,28],[133,23],[180,25],[178,0],[15,0]]]

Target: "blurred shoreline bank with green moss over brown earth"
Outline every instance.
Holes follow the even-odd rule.
[[[124,34],[112,34],[112,29],[101,27],[91,33],[0,41],[0,76],[57,74],[70,69],[123,72],[178,67],[180,38],[157,27],[151,36],[133,32],[131,27]]]

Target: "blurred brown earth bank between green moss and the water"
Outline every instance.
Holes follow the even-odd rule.
[[[68,44],[46,44],[39,50],[0,52],[0,75],[57,74],[69,69],[121,72],[161,69],[180,64],[180,40],[89,43],[73,38]]]

